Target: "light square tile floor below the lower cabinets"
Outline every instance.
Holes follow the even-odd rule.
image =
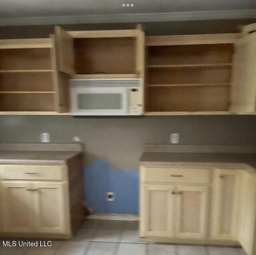
[[[1,255],[245,255],[239,248],[142,243],[138,221],[85,220],[76,237],[51,247],[0,247]]]

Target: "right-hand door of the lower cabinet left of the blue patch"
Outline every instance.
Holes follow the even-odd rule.
[[[36,214],[38,233],[66,233],[67,197],[65,183],[38,182],[36,189]]]

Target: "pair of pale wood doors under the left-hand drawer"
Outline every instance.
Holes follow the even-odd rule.
[[[65,183],[2,181],[3,232],[66,233]]]

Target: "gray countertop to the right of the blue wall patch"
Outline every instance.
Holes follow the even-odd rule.
[[[147,145],[148,146],[148,145]],[[153,150],[153,149],[152,149]],[[154,152],[147,149],[141,158],[142,166],[170,166],[170,167],[224,167],[246,169],[256,174],[256,153],[229,152]],[[177,151],[177,150],[175,150]]]

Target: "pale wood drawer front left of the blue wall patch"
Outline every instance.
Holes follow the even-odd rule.
[[[63,177],[63,165],[0,165],[1,179],[61,181]]]

